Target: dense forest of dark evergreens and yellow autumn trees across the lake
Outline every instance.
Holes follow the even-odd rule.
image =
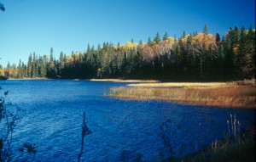
[[[85,53],[49,56],[31,53],[24,63],[0,65],[2,78],[124,78],[173,81],[230,81],[254,78],[255,29],[230,27],[226,35],[203,32],[180,38],[157,33],[148,42],[126,42],[102,46],[88,44]]]

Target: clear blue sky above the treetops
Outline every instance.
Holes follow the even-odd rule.
[[[156,32],[224,35],[230,27],[255,27],[255,0],[0,0],[0,64],[27,62],[30,53],[58,59],[87,44],[147,42]]]

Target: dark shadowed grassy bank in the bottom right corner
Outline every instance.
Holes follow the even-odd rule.
[[[247,127],[241,132],[241,122],[236,115],[230,115],[227,120],[228,133],[223,140],[216,140],[196,154],[188,156],[183,161],[255,161],[255,126]]]

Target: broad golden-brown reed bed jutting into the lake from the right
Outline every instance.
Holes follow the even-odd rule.
[[[254,86],[115,87],[110,89],[108,96],[224,108],[256,107],[256,88]]]

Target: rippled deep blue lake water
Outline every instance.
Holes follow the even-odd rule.
[[[168,155],[160,134],[166,119],[174,153],[195,153],[227,133],[231,115],[241,121],[241,130],[253,125],[254,111],[184,106],[156,101],[126,101],[105,96],[110,87],[125,83],[97,81],[0,81],[0,96],[24,109],[15,127],[13,147],[35,143],[35,161],[77,161],[81,143],[83,112],[92,134],[85,137],[86,161],[121,161],[121,154],[133,159],[137,153],[147,161]],[[183,149],[181,149],[183,143]],[[14,154],[16,152],[14,151]]]

